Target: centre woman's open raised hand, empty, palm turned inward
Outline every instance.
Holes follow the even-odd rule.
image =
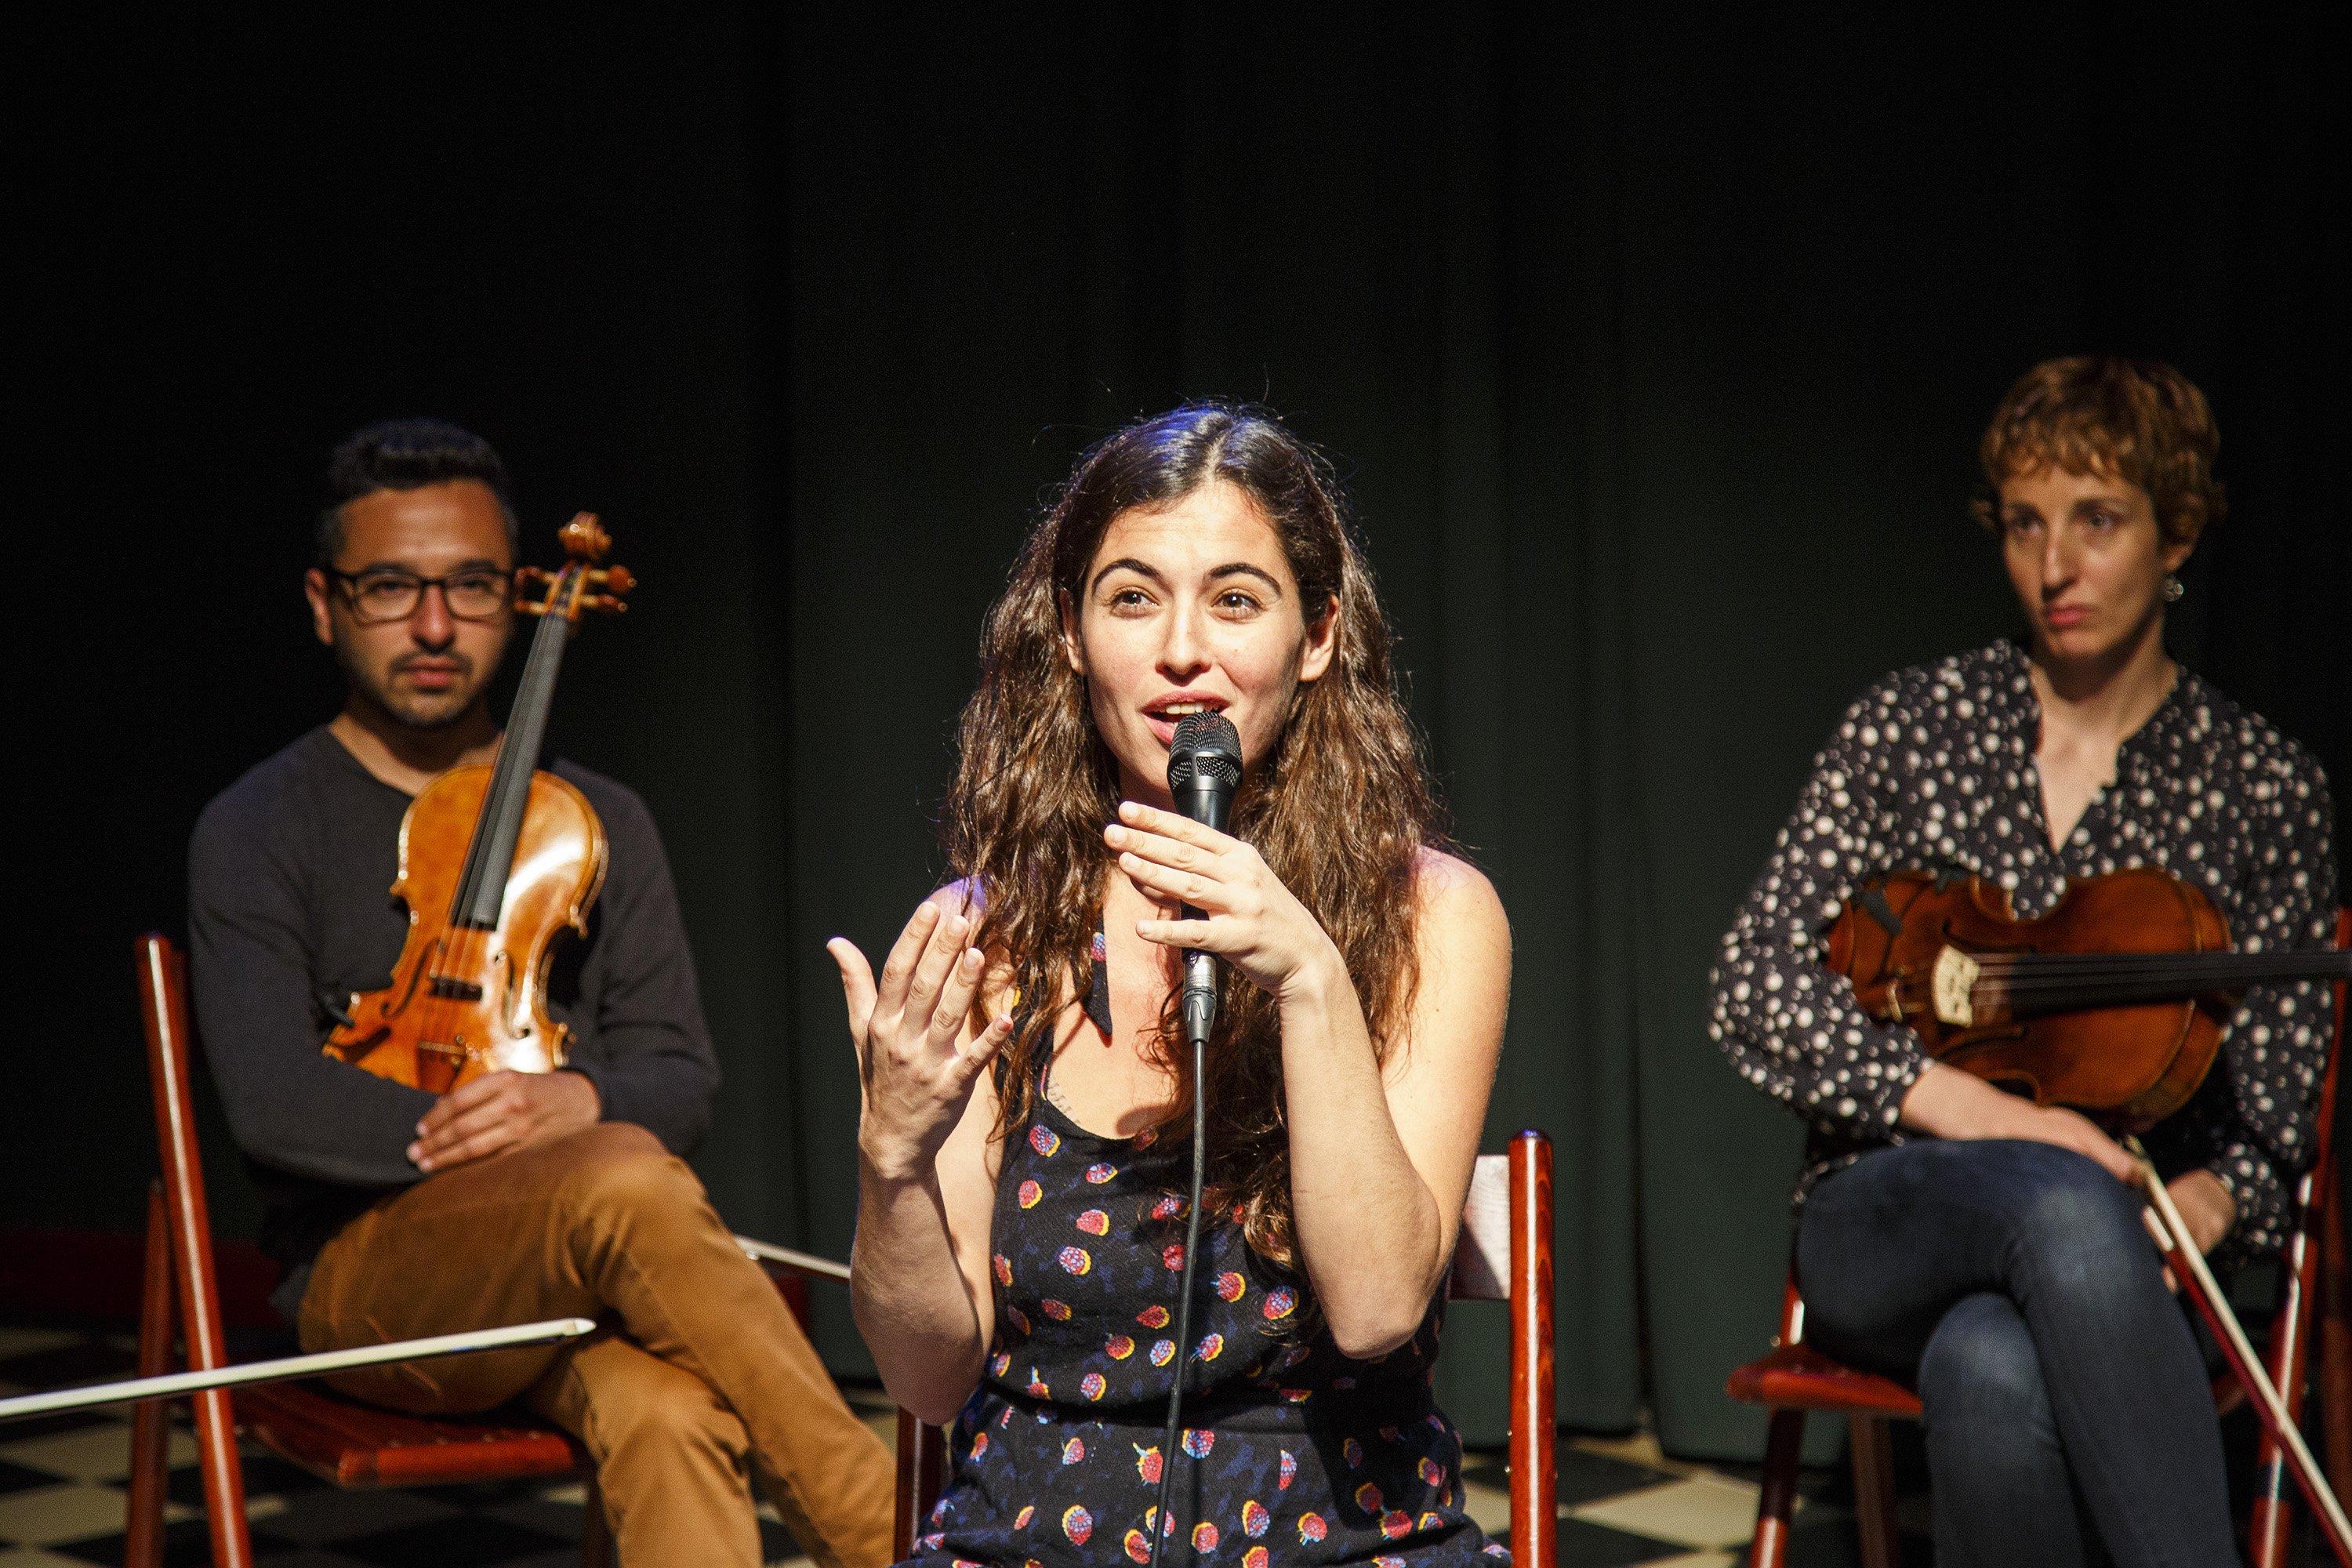
[[[962,1044],[985,973],[969,936],[971,919],[924,900],[889,950],[880,985],[856,943],[842,936],[826,943],[842,971],[849,1039],[858,1051],[858,1152],[882,1175],[931,1171],[981,1070],[1011,1034],[1009,1018],[993,1018],[969,1046]]]

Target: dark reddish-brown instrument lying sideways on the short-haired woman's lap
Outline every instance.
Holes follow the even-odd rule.
[[[2157,867],[2070,879],[2039,919],[1983,877],[1896,872],[1839,910],[1828,950],[1938,1063],[2119,1133],[2197,1093],[2249,985],[2352,978],[2343,947],[2230,952],[2213,903]]]

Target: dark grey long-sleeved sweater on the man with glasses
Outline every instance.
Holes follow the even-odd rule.
[[[710,1121],[717,1058],[694,987],[670,863],[635,792],[555,762],[604,818],[612,863],[588,940],[555,938],[548,1016],[572,1025],[569,1067],[607,1121],[689,1152]],[[261,1246],[299,1302],[306,1265],[386,1192],[423,1180],[407,1159],[433,1095],[320,1051],[327,1004],[390,985],[409,917],[400,872],[409,797],[327,729],[223,790],[188,844],[188,959],[205,1058],[261,1190]]]

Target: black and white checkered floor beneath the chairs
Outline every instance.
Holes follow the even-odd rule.
[[[125,1338],[0,1328],[0,1394],[120,1378],[129,1368]],[[889,1406],[861,1389],[849,1396],[889,1441]],[[120,1563],[127,1467],[129,1415],[120,1410],[0,1427],[0,1568]],[[1470,1512],[1491,1533],[1505,1533],[1510,1493],[1501,1455],[1475,1455],[1463,1479]],[[263,1568],[557,1568],[579,1561],[579,1486],[346,1493],[247,1448],[245,1493]],[[195,1439],[174,1429],[167,1563],[207,1561],[200,1502]],[[1559,1453],[1559,1563],[1729,1568],[1755,1526],[1755,1507],[1752,1481],[1665,1460],[1644,1436],[1576,1441]],[[1917,1519],[1915,1505],[1905,1512],[1907,1523]],[[762,1535],[771,1561],[804,1563],[774,1519],[762,1521]],[[1926,1561],[1924,1544],[1905,1537],[1905,1556]],[[1816,1493],[1799,1509],[1790,1563],[1853,1561],[1851,1514]]]

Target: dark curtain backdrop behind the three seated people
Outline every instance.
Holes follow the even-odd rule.
[[[1336,16],[1336,12],[1334,12]],[[1705,21],[1700,21],[1705,16]],[[1489,1133],[1562,1152],[1562,1410],[1752,1453],[1799,1128],[1710,950],[1842,705],[2013,630],[1964,515],[2056,353],[2180,364],[2232,510],[2171,642],[2352,773],[2340,85],[2317,9],[127,14],[24,49],[35,284],[0,1222],[136,1227],[129,938],[332,712],[327,447],[489,435],[527,550],[644,588],[557,741],[654,806],[727,1067],[729,1220],[842,1255],[821,940],[938,875],[978,616],[1070,456],[1181,397],[1343,463],[1517,936]],[[1491,1145],[1491,1147],[1498,1147]],[[223,1227],[249,1222],[214,1128]],[[823,1342],[861,1349],[837,1302]],[[1477,1309],[1446,1378],[1498,1432]]]

